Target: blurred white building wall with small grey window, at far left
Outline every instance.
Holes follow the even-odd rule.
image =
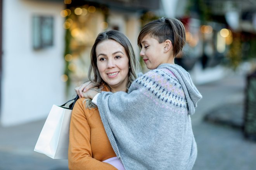
[[[62,1],[1,0],[0,123],[10,126],[47,115],[64,101]]]

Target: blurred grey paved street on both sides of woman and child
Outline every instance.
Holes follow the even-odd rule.
[[[256,169],[256,141],[244,138],[240,128],[228,122],[242,121],[246,77],[235,73],[221,80],[197,85],[203,95],[192,126],[198,147],[193,170],[253,170]],[[221,114],[226,123],[204,121],[212,114]],[[230,111],[230,112],[229,112]],[[21,113],[22,114],[22,113]],[[237,121],[237,119],[240,119]],[[221,120],[219,121],[221,122]],[[67,170],[67,160],[53,160],[33,151],[44,120],[0,128],[0,170]]]

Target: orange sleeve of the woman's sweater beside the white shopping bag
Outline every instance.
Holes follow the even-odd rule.
[[[92,158],[90,126],[85,116],[84,99],[74,105],[69,131],[68,164],[70,170],[116,170],[109,163]]]

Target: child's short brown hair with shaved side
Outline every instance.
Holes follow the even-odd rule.
[[[138,35],[138,46],[142,48],[141,41],[146,36],[156,39],[162,43],[169,39],[173,45],[173,56],[175,57],[186,43],[185,27],[178,19],[160,18],[146,24]]]

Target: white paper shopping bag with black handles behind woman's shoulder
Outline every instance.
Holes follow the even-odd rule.
[[[78,96],[69,107],[53,105],[43,125],[34,151],[53,159],[67,159],[69,145],[69,125],[71,112]],[[69,100],[68,102],[72,101]]]

